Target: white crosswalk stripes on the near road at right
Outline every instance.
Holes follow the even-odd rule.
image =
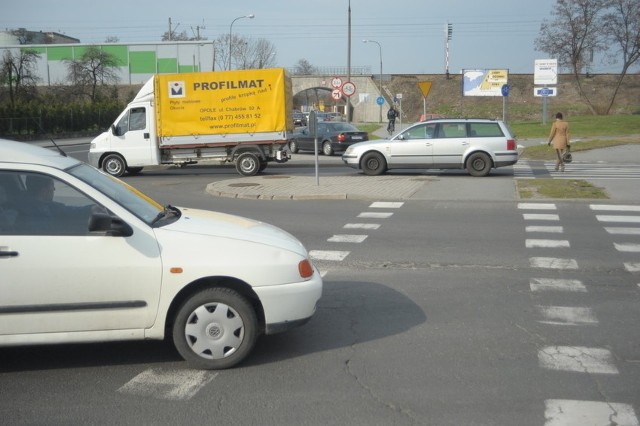
[[[522,210],[526,224],[525,247],[532,254],[540,254],[544,250],[546,255],[532,255],[529,258],[533,274],[536,275],[529,279],[529,289],[532,294],[546,295],[540,300],[557,300],[563,303],[536,305],[538,322],[548,327],[595,329],[600,321],[594,309],[588,306],[589,299],[585,297],[589,293],[589,287],[578,279],[581,265],[579,259],[570,256],[570,239],[564,237],[564,227],[560,225],[563,215],[558,212],[558,206],[555,203],[519,203],[518,209]],[[633,226],[635,223],[640,224],[640,206],[591,204],[589,209],[610,235],[620,238],[620,241],[613,242],[613,248],[621,254],[621,266],[632,274],[640,272],[640,227]],[[550,225],[550,222],[558,224]],[[550,256],[554,254],[555,256]],[[571,274],[576,276],[571,277]],[[572,306],[566,306],[567,304]],[[580,336],[579,340],[588,343],[588,333],[576,335]],[[591,377],[615,378],[621,374],[619,360],[610,345],[602,347],[602,342],[599,346],[577,345],[576,339],[571,339],[570,342],[551,342],[550,336],[557,334],[550,330],[549,337],[543,336],[545,346],[537,352],[540,368],[557,374],[569,372]],[[561,392],[555,392],[553,398],[545,400],[545,426],[640,425],[631,404],[611,401],[604,394],[602,401],[557,399],[561,395]]]

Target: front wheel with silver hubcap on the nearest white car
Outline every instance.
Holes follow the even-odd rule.
[[[223,369],[253,349],[258,322],[247,300],[228,288],[209,288],[187,299],[175,317],[173,343],[193,367]]]

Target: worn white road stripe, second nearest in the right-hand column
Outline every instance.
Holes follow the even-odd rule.
[[[589,374],[618,374],[608,349],[584,346],[547,346],[538,351],[540,367]]]

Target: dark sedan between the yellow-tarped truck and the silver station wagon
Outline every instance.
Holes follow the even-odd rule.
[[[367,132],[360,131],[352,124],[337,121],[319,122],[317,132],[318,150],[324,155],[344,152],[354,143],[369,140]],[[294,154],[298,151],[313,151],[314,145],[315,136],[311,134],[308,127],[303,127],[293,133],[289,150]]]

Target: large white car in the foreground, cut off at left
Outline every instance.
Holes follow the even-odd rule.
[[[161,206],[62,152],[0,140],[0,346],[164,339],[236,365],[307,322],[322,279],[292,235]]]

